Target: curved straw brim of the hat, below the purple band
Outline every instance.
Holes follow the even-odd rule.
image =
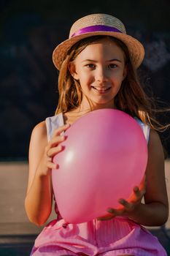
[[[129,57],[134,67],[137,69],[142,63],[142,60],[144,59],[144,47],[141,44],[141,42],[139,42],[134,37],[131,37],[128,34],[123,34],[120,32],[109,32],[109,31],[94,32],[93,31],[85,34],[80,34],[76,37],[72,37],[70,39],[66,39],[65,41],[61,42],[61,44],[58,45],[53,51],[53,63],[55,64],[55,67],[58,70],[61,69],[61,64],[63,63],[63,60],[66,58],[66,54],[68,50],[72,48],[72,46],[76,42],[79,42],[81,39],[84,39],[87,37],[93,37],[96,35],[106,35],[106,36],[120,39],[120,41],[124,42],[124,44],[127,46]]]

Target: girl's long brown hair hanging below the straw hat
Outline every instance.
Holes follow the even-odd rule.
[[[69,63],[74,61],[78,54],[88,45],[104,39],[106,36],[93,36],[80,40],[67,53],[66,59],[61,65],[58,77],[58,107],[55,114],[66,113],[80,106],[82,102],[82,90],[79,82],[72,78],[69,72]],[[108,36],[107,36],[108,37]],[[127,75],[120,87],[120,91],[115,96],[115,107],[123,110],[131,116],[141,119],[144,124],[149,125],[152,129],[161,131],[167,126],[161,125],[154,117],[154,102],[145,94],[144,89],[139,82],[136,69],[131,64],[128,54],[128,48],[119,39],[109,37],[125,53],[125,64],[127,65]],[[155,111],[156,112],[156,111]]]

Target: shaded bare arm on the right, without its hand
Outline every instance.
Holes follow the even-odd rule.
[[[169,203],[166,191],[163,147],[158,133],[153,130],[150,131],[148,153],[145,204],[139,206],[134,220],[142,225],[158,226],[163,225],[169,217]]]

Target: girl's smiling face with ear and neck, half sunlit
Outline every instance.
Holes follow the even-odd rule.
[[[125,54],[115,42],[106,38],[88,45],[69,69],[82,87],[82,105],[90,101],[93,108],[114,108],[126,75]]]

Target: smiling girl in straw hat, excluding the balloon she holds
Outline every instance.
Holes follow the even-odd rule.
[[[55,48],[53,62],[60,70],[58,108],[55,116],[36,125],[29,149],[25,204],[31,222],[43,225],[50,216],[51,169],[58,168],[53,157],[64,150],[60,143],[66,140],[66,129],[90,110],[115,108],[138,118],[149,159],[146,179],[134,187],[131,200],[120,198],[121,207],[107,209],[107,216],[66,224],[56,202],[58,217],[36,238],[31,255],[166,255],[158,239],[142,226],[163,225],[169,214],[163,148],[155,131],[161,127],[155,125],[150,101],[136,76],[143,58],[141,43],[126,34],[120,20],[105,14],[77,20],[69,39]]]

